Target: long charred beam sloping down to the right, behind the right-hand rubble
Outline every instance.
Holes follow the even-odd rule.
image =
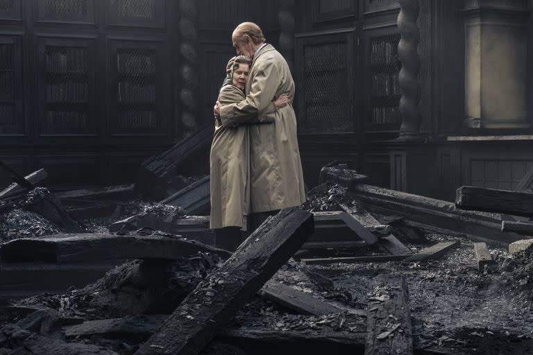
[[[506,247],[521,239],[517,234],[500,230],[500,214],[465,211],[455,207],[452,202],[366,184],[354,185],[350,193],[369,211],[378,214],[398,214],[401,211],[405,225],[423,230],[462,236],[473,241],[498,243]]]

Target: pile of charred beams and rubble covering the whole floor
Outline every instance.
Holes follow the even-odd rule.
[[[174,171],[154,159],[146,166]],[[5,287],[39,284],[33,278],[65,290],[82,270],[115,268],[91,284],[1,307],[0,354],[533,352],[533,247],[502,227],[527,231],[530,192],[462,187],[454,204],[329,166],[301,209],[280,211],[230,253],[209,246],[208,216],[190,216],[208,209],[208,181],[171,196],[169,188],[155,203],[115,202],[112,219],[72,218],[90,230],[53,220],[49,230],[6,238]],[[0,213],[28,213],[35,201],[54,206],[53,198],[85,207],[117,189],[34,187],[19,193],[16,203],[27,205],[1,200]],[[135,191],[123,189],[128,198]],[[514,198],[519,208],[505,202]],[[516,214],[523,217],[509,217]]]

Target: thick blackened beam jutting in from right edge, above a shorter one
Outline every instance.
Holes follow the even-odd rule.
[[[455,205],[460,209],[533,216],[533,193],[462,186],[455,191]]]

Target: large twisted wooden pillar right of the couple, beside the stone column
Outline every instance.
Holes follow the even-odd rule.
[[[400,3],[398,28],[402,36],[398,44],[398,56],[402,63],[402,69],[398,76],[398,83],[402,90],[402,98],[400,99],[400,114],[402,115],[400,139],[418,140],[421,139],[421,114],[418,109],[421,85],[418,83],[420,57],[417,51],[420,31],[416,20],[418,19],[420,5],[418,0],[399,0],[398,3]]]

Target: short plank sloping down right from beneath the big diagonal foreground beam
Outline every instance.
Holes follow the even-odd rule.
[[[291,286],[280,282],[269,281],[261,288],[259,294],[269,300],[281,304],[293,311],[309,315],[326,315],[330,313],[340,313],[341,310],[331,304],[324,302],[312,295],[297,291]]]

